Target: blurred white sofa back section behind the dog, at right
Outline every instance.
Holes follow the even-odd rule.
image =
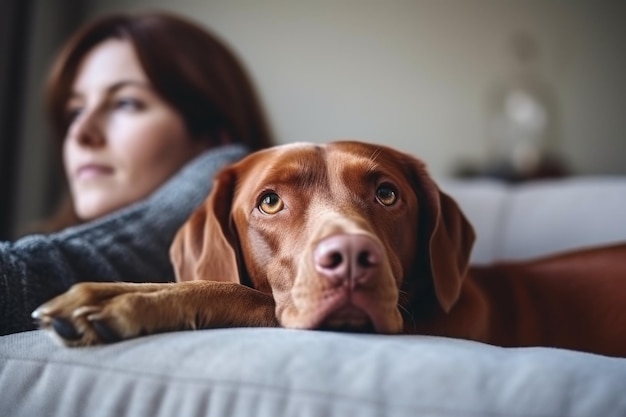
[[[474,225],[473,263],[626,241],[626,180],[573,177],[506,185],[441,180]]]

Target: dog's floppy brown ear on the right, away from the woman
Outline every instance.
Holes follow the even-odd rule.
[[[419,200],[419,270],[429,271],[439,305],[450,311],[461,293],[475,233],[456,201],[442,192],[424,164],[411,161]]]

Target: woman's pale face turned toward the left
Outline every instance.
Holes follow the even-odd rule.
[[[83,220],[146,197],[206,148],[152,89],[125,40],[104,41],[85,56],[66,111],[65,171]]]

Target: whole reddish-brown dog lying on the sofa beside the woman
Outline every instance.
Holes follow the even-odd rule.
[[[280,146],[219,174],[172,245],[179,282],[82,283],[33,316],[68,345],[284,326],[626,355],[626,245],[468,268],[473,241],[409,155]]]

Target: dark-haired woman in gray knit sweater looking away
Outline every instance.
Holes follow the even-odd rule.
[[[272,144],[237,59],[169,14],[88,24],[46,103],[72,203],[56,224],[83,224],[0,242],[0,334],[32,329],[31,311],[78,281],[172,280],[169,244],[212,175]]]

